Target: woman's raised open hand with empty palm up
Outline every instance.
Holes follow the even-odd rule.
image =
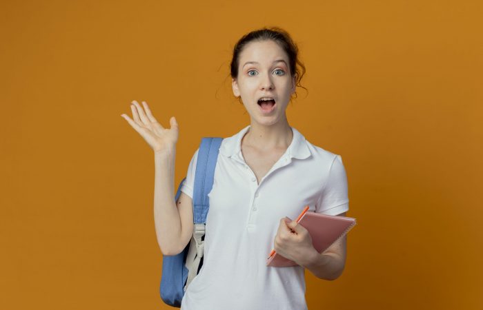
[[[160,123],[156,121],[155,116],[152,116],[151,110],[149,110],[148,103],[142,101],[146,113],[142,109],[141,105],[137,101],[132,101],[132,120],[126,114],[121,114],[126,118],[126,121],[146,140],[153,151],[163,152],[168,149],[172,149],[176,146],[178,141],[178,123],[175,116],[170,118],[171,128],[164,128]]]

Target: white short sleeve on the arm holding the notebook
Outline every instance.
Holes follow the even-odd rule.
[[[337,155],[331,164],[322,194],[317,201],[316,212],[335,216],[348,209],[346,169],[341,156]]]

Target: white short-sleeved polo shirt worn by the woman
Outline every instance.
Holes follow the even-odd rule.
[[[242,156],[250,125],[219,148],[208,194],[204,262],[181,302],[183,310],[307,309],[304,268],[267,267],[279,220],[309,211],[337,215],[348,210],[342,158],[312,145],[294,127],[288,149],[257,183]],[[181,191],[193,198],[198,150]]]

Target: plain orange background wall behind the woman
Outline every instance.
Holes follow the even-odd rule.
[[[2,1],[1,309],[169,309],[154,156],[120,115],[203,136],[248,125],[233,45],[286,29],[307,73],[290,125],[340,154],[343,275],[309,309],[483,309],[481,1]]]

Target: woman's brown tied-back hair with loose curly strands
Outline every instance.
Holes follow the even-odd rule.
[[[286,52],[288,56],[288,68],[290,69],[290,74],[292,76],[296,76],[295,86],[299,86],[307,90],[304,86],[300,85],[300,81],[302,80],[302,76],[304,76],[306,70],[304,64],[298,58],[299,49],[297,48],[297,44],[293,42],[288,32],[277,27],[253,30],[238,40],[233,48],[233,58],[230,63],[231,77],[233,79],[237,79],[238,77],[239,54],[242,52],[245,46],[252,41],[264,40],[275,41],[275,43],[277,43],[284,50],[284,52]],[[295,92],[295,98],[297,98],[297,92]]]

